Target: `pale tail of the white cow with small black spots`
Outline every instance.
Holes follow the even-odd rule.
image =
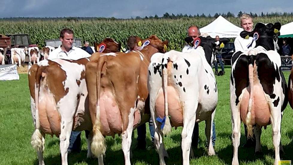
[[[166,59],[166,60],[164,60]],[[167,86],[168,86],[168,60],[167,58],[163,58],[162,61],[162,85],[163,85],[163,93],[164,93],[164,105],[165,105],[165,117],[166,117],[166,121],[165,121],[165,125],[163,128],[163,134],[167,135],[169,132],[171,132],[171,123],[170,123],[170,119],[169,119],[169,112],[168,112],[168,91],[167,91]],[[170,61],[171,62],[171,61]]]

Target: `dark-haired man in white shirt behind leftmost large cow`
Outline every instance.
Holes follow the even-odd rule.
[[[50,52],[48,60],[55,58],[78,60],[80,58],[90,57],[86,51],[79,47],[72,46],[73,44],[73,31],[71,29],[63,29],[60,32],[61,45]]]

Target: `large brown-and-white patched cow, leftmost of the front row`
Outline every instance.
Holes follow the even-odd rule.
[[[115,51],[117,47],[113,49]],[[88,61],[88,58],[43,60],[29,69],[31,113],[35,126],[31,144],[37,151],[39,164],[44,164],[45,134],[60,136],[61,160],[62,164],[67,164],[71,130],[93,129],[85,82]],[[92,133],[88,138],[87,157],[91,157],[91,137]]]

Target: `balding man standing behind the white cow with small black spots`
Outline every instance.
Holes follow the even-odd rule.
[[[187,30],[188,37],[192,37],[193,39],[200,37],[200,29],[195,26],[189,26]],[[188,49],[193,49],[192,46],[186,45],[183,47],[182,52],[185,52]],[[198,138],[198,123],[195,123],[194,129],[193,129],[193,134],[192,134],[192,146],[197,148],[199,138]],[[213,136],[212,136],[212,143],[213,146],[215,146],[215,141],[216,141],[216,129],[215,129],[215,123],[213,122]],[[207,146],[207,140],[206,140],[206,146]]]

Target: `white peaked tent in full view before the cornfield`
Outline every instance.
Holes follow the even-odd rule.
[[[200,33],[208,33],[212,38],[215,38],[217,35],[220,38],[236,38],[242,31],[242,28],[235,26],[222,16],[219,16],[209,25],[200,28]]]

